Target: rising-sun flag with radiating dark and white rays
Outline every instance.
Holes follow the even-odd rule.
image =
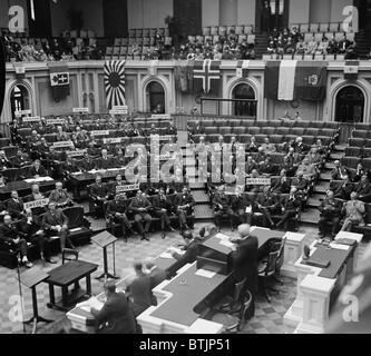
[[[105,89],[108,109],[126,103],[125,62],[125,60],[108,60],[105,63]]]

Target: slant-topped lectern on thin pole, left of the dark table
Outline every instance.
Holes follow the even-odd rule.
[[[39,285],[41,281],[47,280],[48,278],[49,275],[38,267],[32,267],[20,275],[21,284],[30,288],[32,291],[33,316],[29,320],[23,322],[23,324],[33,323],[32,334],[36,334],[36,328],[38,323],[52,323],[52,320],[39,316],[38,300],[36,295],[36,286]]]

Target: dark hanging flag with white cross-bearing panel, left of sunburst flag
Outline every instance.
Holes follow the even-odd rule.
[[[56,101],[69,96],[69,71],[67,63],[49,62],[51,95]]]

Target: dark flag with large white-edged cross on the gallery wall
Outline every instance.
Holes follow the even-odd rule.
[[[219,60],[195,60],[193,66],[194,92],[217,93],[221,85]]]

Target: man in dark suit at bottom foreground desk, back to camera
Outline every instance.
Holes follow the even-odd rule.
[[[99,334],[136,334],[136,322],[124,293],[116,291],[115,281],[105,283],[107,300],[100,310],[90,313],[96,319]]]

